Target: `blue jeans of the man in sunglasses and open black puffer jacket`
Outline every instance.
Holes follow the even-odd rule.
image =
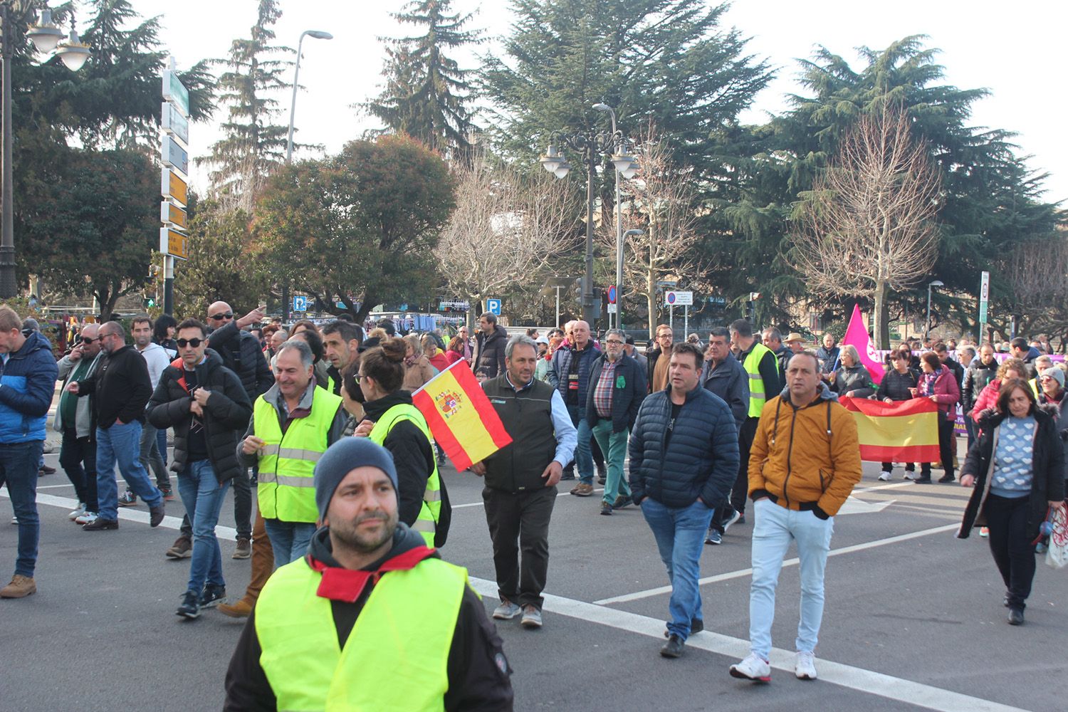
[[[215,525],[219,523],[219,512],[229,487],[229,479],[219,484],[208,460],[188,462],[185,471],[178,473],[178,494],[193,523],[193,556],[189,565],[188,590],[198,596],[204,590],[204,582],[226,585],[222,580],[222,552],[215,537]]]

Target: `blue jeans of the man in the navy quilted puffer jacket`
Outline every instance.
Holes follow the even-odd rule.
[[[660,558],[671,581],[671,620],[668,632],[684,640],[690,637],[690,621],[704,620],[701,612],[701,552],[712,510],[701,501],[689,507],[665,507],[650,496],[642,500],[642,513],[653,529]]]

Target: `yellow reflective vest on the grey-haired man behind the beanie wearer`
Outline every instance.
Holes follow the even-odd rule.
[[[253,432],[266,445],[260,450],[256,500],[265,519],[283,522],[315,522],[315,463],[327,449],[327,438],[341,397],[314,389],[312,411],[289,423],[285,434],[278,423],[278,410],[263,396],[252,409]]]

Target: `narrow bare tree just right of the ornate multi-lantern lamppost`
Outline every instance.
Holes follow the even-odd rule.
[[[641,146],[641,169],[621,186],[623,230],[641,230],[643,234],[627,237],[624,246],[624,295],[645,299],[653,338],[658,323],[657,282],[672,278],[700,288],[696,280],[704,270],[695,249],[700,236],[694,230],[697,215],[692,170],[672,160],[666,140],[653,124],[635,143]],[[615,254],[614,221],[602,221],[598,237]]]

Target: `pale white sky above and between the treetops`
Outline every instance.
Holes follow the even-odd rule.
[[[235,37],[245,37],[255,20],[256,0],[131,0],[142,15],[160,15],[161,39],[178,67],[208,57],[224,57]],[[380,35],[403,30],[390,16],[403,0],[281,0],[278,39],[296,47],[302,30],[326,30],[332,41],[304,39],[297,97],[297,141],[323,144],[336,152],[375,123],[350,105],[378,93],[382,66]],[[473,26],[484,28],[489,46],[508,33],[511,5],[505,2],[454,0],[460,11],[477,11]],[[942,50],[946,83],[962,89],[986,88],[991,95],[974,107],[973,124],[1016,131],[1028,165],[1050,174],[1046,199],[1068,197],[1068,142],[1057,123],[1064,99],[1062,73],[1068,66],[1068,3],[1005,3],[989,0],[737,0],[725,21],[752,37],[749,51],[767,58],[778,78],[757,96],[745,122],[765,121],[765,112],[785,107],[783,95],[798,91],[797,58],[807,58],[817,45],[860,66],[855,47],[875,49],[909,34],[926,34]],[[478,51],[484,51],[480,49]],[[471,59],[473,64],[473,58]],[[469,64],[472,65],[472,64]],[[278,123],[287,124],[289,96],[280,96]],[[191,156],[204,156],[218,139],[220,112],[211,124],[190,127]],[[624,117],[621,117],[624,120]],[[308,154],[309,156],[311,154]],[[192,183],[205,188],[206,171],[193,169]]]

